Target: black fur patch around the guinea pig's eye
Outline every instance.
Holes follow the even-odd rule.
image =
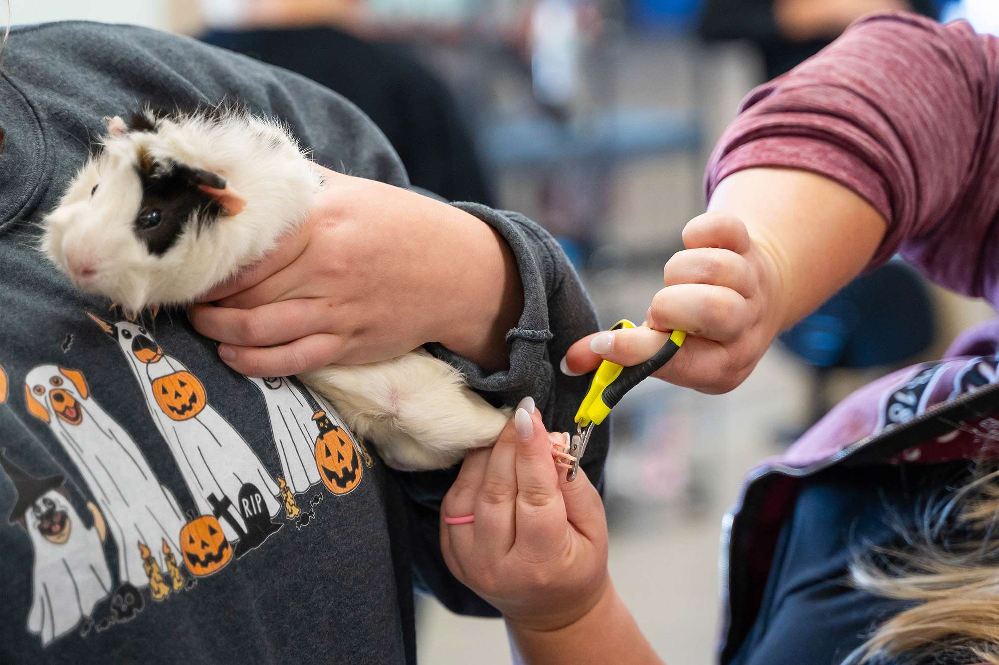
[[[142,180],[141,216],[151,209],[160,210],[160,224],[145,229],[135,223],[135,234],[146,244],[151,254],[163,256],[180,238],[185,229],[197,223],[202,227],[218,222],[222,206],[211,196],[198,189],[199,174],[196,170],[174,162],[140,160],[139,178]]]

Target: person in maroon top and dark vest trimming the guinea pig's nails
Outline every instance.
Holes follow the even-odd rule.
[[[730,390],[778,331],[896,252],[999,309],[997,184],[999,38],[862,20],[749,94],[644,326],[580,339],[563,371],[637,364],[683,330],[655,375]],[[547,440],[521,408],[466,459],[442,505],[446,561],[527,663],[659,663],[607,575],[596,491],[560,479]],[[725,665],[999,664],[999,319],[840,402],[751,471],[723,528]]]

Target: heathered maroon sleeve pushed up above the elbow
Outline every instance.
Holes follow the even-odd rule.
[[[708,197],[751,167],[815,172],[887,220],[934,281],[999,305],[999,40],[964,22],[874,16],[754,90],[707,168]]]

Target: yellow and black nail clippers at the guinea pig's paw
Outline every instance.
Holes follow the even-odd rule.
[[[635,328],[635,325],[627,319],[614,324],[611,331],[619,331],[625,328]],[[589,384],[589,391],[579,404],[579,410],[575,412],[575,435],[572,436],[568,446],[568,455],[572,457],[566,473],[566,480],[575,480],[579,472],[579,463],[582,455],[586,452],[586,444],[589,436],[593,433],[593,427],[603,422],[604,418],[610,414],[610,409],[621,400],[624,394],[640,383],[642,379],[651,376],[659,367],[669,361],[686,339],[683,331],[673,331],[669,339],[662,345],[655,355],[640,364],[630,367],[604,360],[596,368],[593,380]]]

